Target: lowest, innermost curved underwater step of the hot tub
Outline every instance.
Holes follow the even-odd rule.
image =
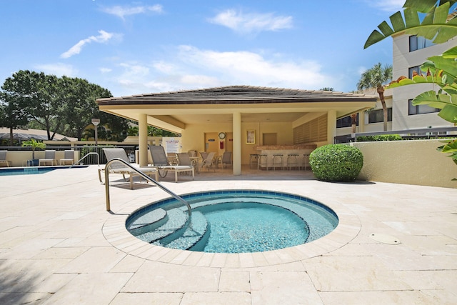
[[[187,250],[203,239],[206,232],[208,232],[206,217],[201,212],[194,211],[191,221],[184,231],[171,234],[155,244],[172,249]]]

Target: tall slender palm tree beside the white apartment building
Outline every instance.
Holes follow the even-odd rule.
[[[362,73],[362,76],[357,84],[358,90],[376,88],[381,99],[381,105],[383,106],[383,129],[387,131],[387,106],[386,99],[384,99],[385,85],[392,79],[392,66],[386,64],[381,66],[381,63],[375,64],[373,68],[366,70]]]

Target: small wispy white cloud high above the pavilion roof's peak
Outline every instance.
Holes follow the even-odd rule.
[[[243,14],[229,9],[209,19],[213,24],[226,26],[239,33],[256,33],[259,31],[278,31],[292,27],[291,16],[274,16],[274,14]]]

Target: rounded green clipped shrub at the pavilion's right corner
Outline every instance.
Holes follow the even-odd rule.
[[[309,164],[318,180],[354,181],[362,169],[363,155],[356,147],[330,144],[311,152]]]

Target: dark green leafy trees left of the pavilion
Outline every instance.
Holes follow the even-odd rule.
[[[1,89],[0,125],[11,131],[33,124],[45,129],[49,140],[56,133],[81,140],[91,119],[99,118],[111,131],[108,140],[122,141],[126,136],[126,119],[101,113],[95,102],[111,97],[111,92],[86,79],[21,70],[6,79]]]

